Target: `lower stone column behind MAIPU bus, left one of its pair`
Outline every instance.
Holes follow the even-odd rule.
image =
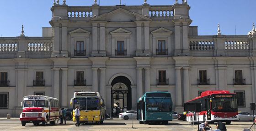
[[[53,97],[59,99],[59,68],[54,68]]]

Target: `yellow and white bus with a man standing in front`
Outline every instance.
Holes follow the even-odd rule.
[[[73,105],[73,121],[75,120],[75,107],[80,110],[80,123],[95,121],[102,124],[105,120],[105,101],[99,92],[81,91],[75,92],[74,98],[70,100]]]

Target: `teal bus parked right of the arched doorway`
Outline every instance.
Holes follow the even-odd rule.
[[[137,119],[140,124],[168,125],[172,121],[172,105],[171,93],[147,92],[137,102]]]

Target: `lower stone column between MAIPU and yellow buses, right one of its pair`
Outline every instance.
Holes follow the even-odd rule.
[[[68,107],[68,68],[61,68],[62,83],[61,83],[61,106]]]

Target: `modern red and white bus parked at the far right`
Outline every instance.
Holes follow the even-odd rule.
[[[194,98],[187,103],[201,103],[201,112],[187,113],[187,121],[194,122],[226,122],[227,125],[231,121],[238,121],[238,106],[235,93],[229,91],[204,91],[201,96]]]

